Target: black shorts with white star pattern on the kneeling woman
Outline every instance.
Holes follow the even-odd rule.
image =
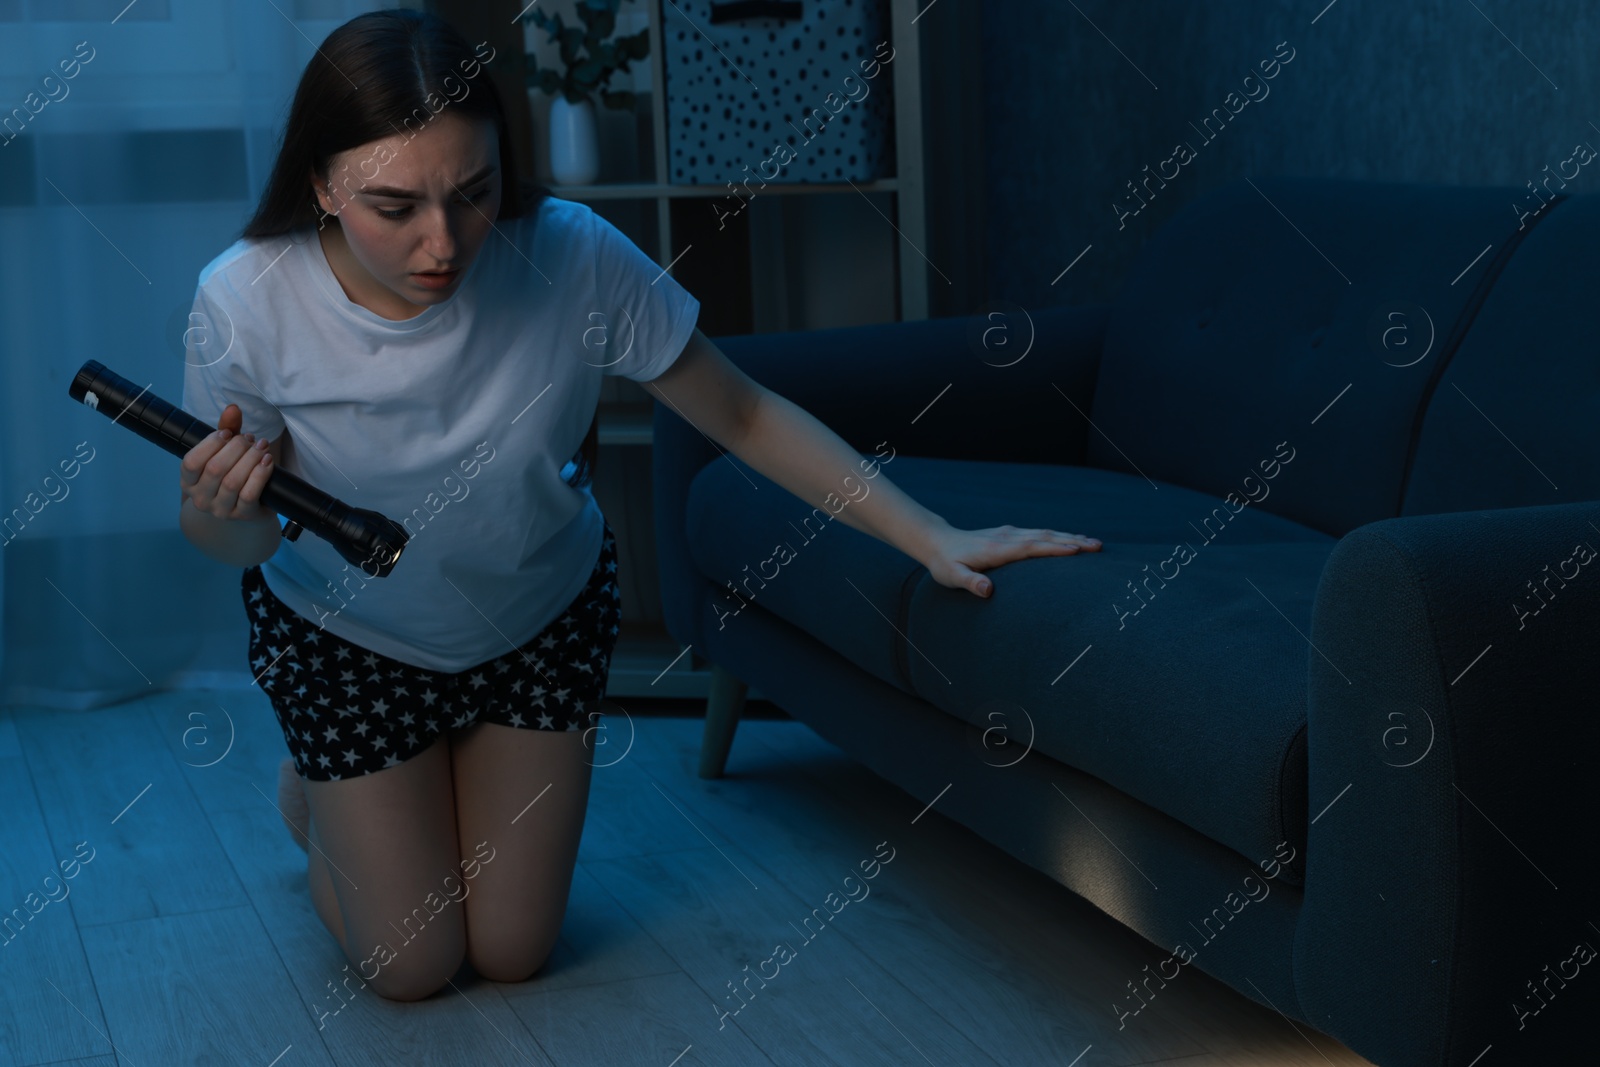
[[[446,728],[597,726],[622,614],[610,523],[589,582],[560,617],[522,648],[456,673],[424,670],[320,629],[267,589],[259,566],[245,569],[240,592],[251,624],[251,675],[272,702],[294,769],[320,782],[403,763]]]

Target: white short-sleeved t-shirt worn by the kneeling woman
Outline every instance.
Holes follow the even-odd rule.
[[[262,563],[328,632],[429,670],[523,645],[579,593],[603,518],[563,482],[603,374],[650,381],[699,301],[590,208],[547,197],[496,224],[443,304],[392,322],[350,302],[312,227],[240,240],[200,272],[182,408],[277,440],[282,467],[403,523],[387,577],[310,533]]]

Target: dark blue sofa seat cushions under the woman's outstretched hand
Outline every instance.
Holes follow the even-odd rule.
[[[725,587],[720,625],[738,625],[741,601],[773,611],[979,728],[974,758],[1038,752],[1250,862],[1282,841],[1304,854],[1304,635],[1333,537],[1262,510],[1270,482],[1235,512],[1094,467],[899,456],[885,472],[958,528],[1043,526],[1104,549],[995,568],[979,598],[728,458],[688,507],[694,561]]]

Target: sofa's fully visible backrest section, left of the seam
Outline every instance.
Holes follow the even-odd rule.
[[[1398,515],[1430,378],[1539,229],[1515,192],[1275,178],[1187,205],[1110,306],[1088,462],[1333,536]]]

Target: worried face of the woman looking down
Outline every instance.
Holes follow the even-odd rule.
[[[350,299],[387,317],[418,315],[456,293],[499,216],[494,122],[442,112],[410,134],[338,154],[312,184],[339,221],[326,237],[344,250],[330,262]]]

